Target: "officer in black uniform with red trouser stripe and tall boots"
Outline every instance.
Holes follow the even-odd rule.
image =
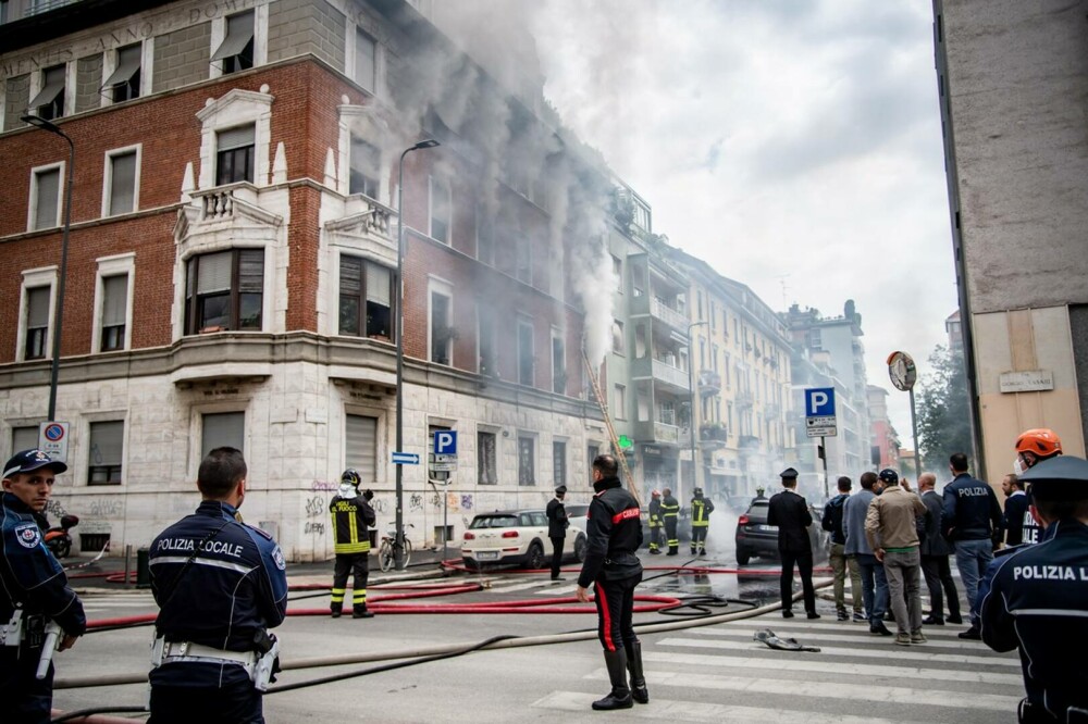
[[[619,482],[613,455],[597,455],[593,460],[593,490],[586,520],[585,561],[578,575],[576,595],[578,600],[589,601],[589,587],[593,584],[597,638],[604,647],[613,687],[608,696],[593,702],[593,708],[630,709],[632,701],[650,701],[642,672],[642,645],[632,625],[634,588],[642,581],[642,563],[635,554],[642,545],[642,512],[639,501]]]

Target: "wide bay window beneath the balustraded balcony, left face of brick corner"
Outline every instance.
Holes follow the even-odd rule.
[[[263,291],[263,249],[230,249],[189,259],[185,334],[260,332]]]

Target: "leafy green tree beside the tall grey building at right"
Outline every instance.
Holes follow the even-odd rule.
[[[970,454],[970,411],[963,355],[938,345],[929,355],[931,372],[919,380],[918,444],[924,470],[944,470],[953,452]]]

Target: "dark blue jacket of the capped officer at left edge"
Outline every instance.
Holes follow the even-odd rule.
[[[22,606],[24,616],[45,615],[70,636],[87,629],[83,603],[69,588],[64,569],[42,542],[34,512],[22,500],[3,494],[3,541],[0,542],[0,624]]]

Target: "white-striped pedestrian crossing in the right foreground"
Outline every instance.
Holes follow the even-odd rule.
[[[820,651],[769,649],[753,640],[764,628]],[[623,715],[790,724],[1015,722],[1023,697],[1019,659],[962,640],[960,631],[928,627],[927,644],[901,647],[862,624],[767,614],[643,635],[651,703]],[[585,712],[607,691],[608,673],[595,669],[570,688],[534,707]]]

